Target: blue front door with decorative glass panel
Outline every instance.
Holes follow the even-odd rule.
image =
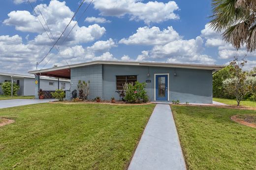
[[[168,100],[168,75],[156,75],[156,100]]]

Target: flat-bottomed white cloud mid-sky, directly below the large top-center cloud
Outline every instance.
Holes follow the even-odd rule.
[[[156,26],[151,28],[148,26],[139,27],[135,34],[129,36],[128,39],[121,39],[119,43],[126,45],[165,45],[181,38],[172,26],[167,28],[160,31],[160,28]]]

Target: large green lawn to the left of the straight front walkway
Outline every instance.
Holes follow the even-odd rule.
[[[0,109],[0,170],[123,170],[154,109],[149,105],[34,104]]]

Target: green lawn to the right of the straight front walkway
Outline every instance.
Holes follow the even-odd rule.
[[[255,110],[172,105],[191,170],[256,170],[256,129],[230,120]]]

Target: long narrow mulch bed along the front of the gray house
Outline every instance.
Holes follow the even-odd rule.
[[[116,100],[115,103],[111,103],[110,100],[101,100],[100,102],[96,102],[95,100],[85,100],[85,101],[71,101],[71,100],[64,100],[64,101],[53,101],[50,103],[62,103],[62,104],[113,104],[113,105],[144,105],[144,104],[151,104],[151,102],[147,103],[127,103],[124,101]]]

